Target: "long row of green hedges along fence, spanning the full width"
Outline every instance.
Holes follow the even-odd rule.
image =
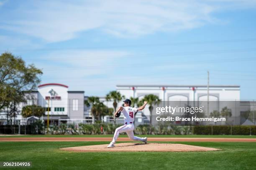
[[[113,134],[122,124],[73,124],[55,125],[50,128],[52,134]],[[101,132],[101,127],[102,131]],[[43,124],[35,122],[31,125],[20,126],[20,134],[44,134]],[[18,134],[18,125],[0,125],[2,134]],[[158,125],[138,125],[135,130],[138,135],[256,135],[256,126],[174,126],[169,123]]]

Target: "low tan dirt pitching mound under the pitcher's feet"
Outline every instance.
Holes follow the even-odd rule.
[[[118,143],[113,148],[107,148],[108,145],[90,145],[70,148],[61,148],[61,150],[74,152],[191,152],[191,151],[213,151],[220,150],[215,148],[206,148],[201,146],[167,144],[167,143]]]

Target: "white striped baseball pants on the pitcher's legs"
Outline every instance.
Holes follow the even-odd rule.
[[[120,127],[116,128],[115,129],[115,133],[114,133],[114,137],[113,137],[113,140],[112,140],[112,143],[115,143],[115,141],[117,140],[117,138],[119,136],[119,133],[122,133],[122,132],[126,132],[128,137],[131,140],[143,141],[143,138],[134,136],[133,130],[134,130],[134,125],[133,124],[123,125],[123,126],[120,126]]]

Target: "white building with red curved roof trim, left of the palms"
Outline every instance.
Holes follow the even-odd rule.
[[[37,91],[26,94],[27,103],[21,103],[15,124],[25,124],[27,120],[20,113],[26,105],[38,105],[45,108],[41,117],[47,123],[59,124],[59,122],[82,122],[84,120],[84,91],[69,91],[67,85],[48,83],[38,86]],[[6,113],[0,115],[2,124],[6,122]]]

